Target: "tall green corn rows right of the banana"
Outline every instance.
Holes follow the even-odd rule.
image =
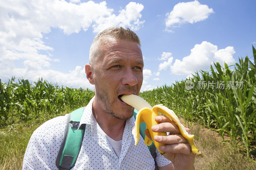
[[[196,72],[193,78],[140,93],[140,96],[152,106],[162,103],[172,108],[189,122],[202,122],[207,128],[217,130],[223,140],[224,135],[228,135],[231,140],[223,142],[244,149],[248,157],[255,155],[256,50],[252,48],[254,64],[247,56],[239,59],[235,70],[226,63],[224,68],[214,63],[209,71]],[[194,88],[186,89],[187,80],[194,83]]]

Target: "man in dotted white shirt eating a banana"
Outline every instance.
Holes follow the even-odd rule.
[[[111,27],[99,33],[90,48],[90,64],[86,77],[95,85],[95,96],[84,107],[79,127],[85,124],[83,144],[73,169],[154,169],[154,159],[140,140],[134,146],[132,126],[134,108],[120,100],[123,94],[139,95],[143,81],[143,57],[139,37],[130,29]],[[165,143],[156,151],[156,162],[162,169],[194,169],[195,155],[178,127],[164,116],[157,116],[155,132],[171,132],[155,136]],[[66,116],[41,125],[30,138],[23,169],[58,169],[55,166],[64,136]],[[189,129],[187,129],[190,133]],[[149,132],[145,131],[149,136]]]

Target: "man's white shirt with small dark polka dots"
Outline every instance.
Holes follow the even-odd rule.
[[[72,170],[84,169],[155,169],[155,162],[148,147],[140,136],[137,146],[134,145],[132,127],[135,119],[126,121],[122,138],[120,156],[116,155],[105,134],[97,130],[97,123],[93,120],[92,102],[84,107],[80,125],[86,124],[84,139],[79,156]],[[38,127],[28,142],[22,169],[53,170],[60,145],[64,137],[66,116],[53,118]],[[166,166],[171,163],[156,150],[157,166]]]

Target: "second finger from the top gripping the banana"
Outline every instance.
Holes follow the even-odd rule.
[[[151,127],[151,130],[153,132],[172,132],[172,134],[180,134],[180,129],[177,124],[170,122],[156,124]]]

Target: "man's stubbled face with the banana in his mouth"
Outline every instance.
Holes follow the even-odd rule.
[[[108,39],[100,48],[102,53],[96,60],[93,74],[95,97],[105,113],[127,120],[133,115],[133,107],[120,97],[139,95],[143,81],[140,46],[135,42]]]

